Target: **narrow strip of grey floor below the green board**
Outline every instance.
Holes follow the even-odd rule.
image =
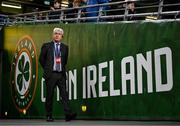
[[[43,119],[19,119],[19,120],[0,120],[3,126],[161,126],[161,125],[179,125],[180,122],[169,121],[91,121],[91,120],[73,120],[65,122],[64,120],[55,120],[46,122]]]

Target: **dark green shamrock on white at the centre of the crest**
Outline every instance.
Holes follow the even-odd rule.
[[[25,61],[25,56],[22,55],[18,63],[17,75],[17,84],[19,86],[20,91],[27,90],[26,82],[28,82],[30,76],[29,67],[29,62]]]

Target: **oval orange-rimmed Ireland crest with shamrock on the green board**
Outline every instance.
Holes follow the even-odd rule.
[[[16,108],[26,111],[36,91],[38,61],[36,48],[30,36],[22,37],[16,46],[11,65],[11,90]]]

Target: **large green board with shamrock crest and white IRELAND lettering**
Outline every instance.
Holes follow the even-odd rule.
[[[78,119],[180,120],[178,21],[5,27],[2,118],[45,118],[38,58],[54,27],[69,46],[67,90]],[[57,119],[60,99],[57,89]]]

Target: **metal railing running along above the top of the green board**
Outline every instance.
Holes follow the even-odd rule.
[[[133,13],[128,7],[130,3],[135,4]],[[87,11],[88,8],[96,8],[96,11]],[[126,0],[76,8],[64,8],[55,11],[47,10],[18,15],[4,15],[2,17],[3,20],[1,19],[0,21],[1,25],[55,22],[115,22],[145,20],[148,18],[151,20],[177,19],[180,18],[180,3],[168,4],[164,3],[164,0],[157,0],[155,3],[148,3],[140,0]]]

